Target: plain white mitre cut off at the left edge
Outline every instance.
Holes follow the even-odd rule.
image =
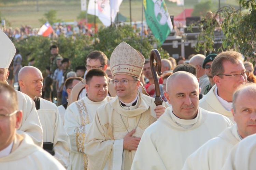
[[[8,68],[16,49],[10,38],[0,29],[0,68]]]

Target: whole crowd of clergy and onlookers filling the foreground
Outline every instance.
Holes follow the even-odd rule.
[[[125,42],[75,72],[52,45],[43,77],[2,30],[0,48],[3,169],[255,169],[256,82],[239,52],[161,59],[154,77]],[[19,91],[7,83],[12,61]]]

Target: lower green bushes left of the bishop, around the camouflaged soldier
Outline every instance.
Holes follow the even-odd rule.
[[[28,61],[31,58],[35,58],[34,66],[43,71],[46,66],[50,65],[49,58],[51,57],[51,52],[49,48],[52,44],[58,45],[59,54],[62,57],[69,58],[71,60],[71,68],[75,68],[85,65],[86,56],[93,50],[90,43],[91,37],[89,36],[69,38],[60,36],[57,40],[51,40],[51,38],[43,36],[31,36],[14,43],[14,45],[23,56],[22,64],[24,66],[28,65]],[[27,58],[26,54],[29,52],[31,52],[30,58]]]

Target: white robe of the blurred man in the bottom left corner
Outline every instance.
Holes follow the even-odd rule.
[[[39,148],[26,133],[16,134],[11,153],[0,158],[1,170],[65,170],[52,155]]]

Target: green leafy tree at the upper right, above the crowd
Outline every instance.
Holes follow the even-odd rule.
[[[241,9],[236,10],[231,6],[224,6],[214,14],[223,18],[221,29],[223,31],[222,49],[234,50],[241,52],[251,61],[256,58],[255,42],[256,42],[256,1],[255,0],[239,0],[241,7],[250,10],[249,14],[244,14]],[[196,50],[214,51],[214,31],[218,27],[215,18],[203,19],[199,23],[202,29],[198,36]],[[255,64],[255,61],[253,61]]]

